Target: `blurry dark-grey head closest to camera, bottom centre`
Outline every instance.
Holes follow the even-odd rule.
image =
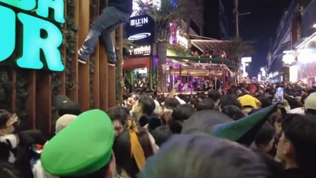
[[[251,150],[206,134],[175,135],[146,160],[138,178],[271,178]]]

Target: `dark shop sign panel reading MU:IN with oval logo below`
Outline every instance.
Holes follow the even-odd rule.
[[[149,15],[131,17],[126,26],[127,39],[138,45],[154,43],[155,21]]]

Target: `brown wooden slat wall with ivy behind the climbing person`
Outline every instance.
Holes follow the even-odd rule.
[[[98,0],[95,1],[98,2]],[[67,0],[65,0],[65,7],[67,7],[66,3]],[[94,62],[95,73],[92,76],[93,81],[91,82],[91,84],[89,81],[90,64],[78,64],[77,51],[85,40],[90,27],[90,23],[98,17],[99,6],[100,4],[97,3],[95,9],[90,9],[90,0],[75,0],[74,21],[79,27],[79,32],[76,34],[76,36],[78,37],[76,47],[74,49],[76,52],[73,56],[71,66],[69,66],[71,71],[69,80],[75,81],[76,85],[72,89],[67,89],[66,72],[64,71],[59,73],[59,80],[61,82],[61,85],[59,86],[59,93],[66,94],[72,100],[78,102],[83,111],[92,109],[90,108],[90,100],[93,100],[93,108],[99,108],[104,111],[106,111],[109,107],[113,107],[116,105],[116,72],[115,67],[108,66],[105,46],[103,46],[102,43],[96,45]],[[67,10],[67,8],[65,9]],[[89,15],[90,10],[93,10],[94,15]],[[66,28],[66,24],[64,24],[62,28]],[[114,41],[114,44],[116,44],[116,47],[119,47],[119,61],[117,67],[121,67],[122,25],[120,25],[119,28],[115,32],[113,32],[112,35],[113,39],[115,39],[115,36],[117,36],[117,41]],[[63,54],[63,62],[65,64],[65,46],[62,46],[61,52]],[[9,78],[14,86],[17,82],[18,70],[21,69],[12,68],[9,72]],[[26,121],[27,128],[36,128],[41,130],[44,134],[50,135],[52,124],[51,73],[48,71],[28,70],[27,74],[28,76],[26,78],[28,79],[28,82],[26,90],[28,91],[28,95],[25,101],[26,110],[28,113],[28,120]],[[122,80],[121,76],[119,76],[118,80]],[[92,88],[91,98],[90,87]],[[121,95],[122,91],[118,90],[118,93]],[[16,89],[15,87],[13,87],[10,98],[12,101],[15,101],[16,97]],[[122,101],[121,98],[120,101]],[[10,103],[9,108],[11,112],[15,112],[16,102]]]

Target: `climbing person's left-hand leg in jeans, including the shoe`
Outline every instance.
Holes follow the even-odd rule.
[[[125,14],[123,12],[120,12],[115,7],[105,8],[99,18],[91,24],[89,33],[78,51],[79,62],[85,64],[92,54],[101,33],[122,20],[125,20]]]

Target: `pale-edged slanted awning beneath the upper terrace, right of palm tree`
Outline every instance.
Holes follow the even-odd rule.
[[[202,52],[207,50],[218,50],[227,51],[231,45],[232,41],[222,41],[222,40],[191,40],[191,44],[197,47]]]

